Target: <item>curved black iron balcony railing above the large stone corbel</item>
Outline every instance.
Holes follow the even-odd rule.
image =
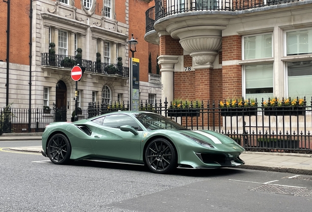
[[[299,0],[155,0],[146,13],[146,32],[154,29],[155,21],[179,13],[194,11],[239,11]],[[153,12],[155,11],[155,13]]]

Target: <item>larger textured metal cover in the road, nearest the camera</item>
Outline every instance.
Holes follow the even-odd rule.
[[[261,191],[268,193],[290,194],[295,196],[308,196],[312,197],[312,190],[307,188],[288,187],[281,185],[260,185],[250,189],[252,191]]]

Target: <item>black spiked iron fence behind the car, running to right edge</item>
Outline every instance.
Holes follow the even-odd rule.
[[[303,106],[298,100],[294,106],[286,106],[285,102],[284,106],[275,106],[276,102],[266,104],[262,100],[260,104],[257,101],[251,104],[242,99],[242,105],[246,103],[244,107],[239,107],[241,102],[237,101],[226,107],[220,101],[212,101],[212,104],[209,101],[189,104],[159,101],[153,105],[146,101],[141,102],[139,109],[169,117],[191,130],[221,132],[247,151],[312,153],[311,105],[306,105],[306,99]],[[129,103],[89,103],[88,117],[118,110],[129,110]]]

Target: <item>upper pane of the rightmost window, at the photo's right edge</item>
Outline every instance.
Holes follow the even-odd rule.
[[[308,53],[312,53],[312,29],[286,32],[287,56]]]

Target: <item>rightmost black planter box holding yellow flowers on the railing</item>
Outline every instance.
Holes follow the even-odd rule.
[[[266,116],[282,116],[282,115],[305,115],[305,107],[294,107],[294,106],[281,106],[281,107],[265,107],[264,115]]]

